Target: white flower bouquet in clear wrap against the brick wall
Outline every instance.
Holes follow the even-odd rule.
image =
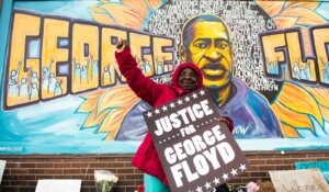
[[[118,178],[111,171],[94,170],[97,192],[111,192],[117,183]]]

